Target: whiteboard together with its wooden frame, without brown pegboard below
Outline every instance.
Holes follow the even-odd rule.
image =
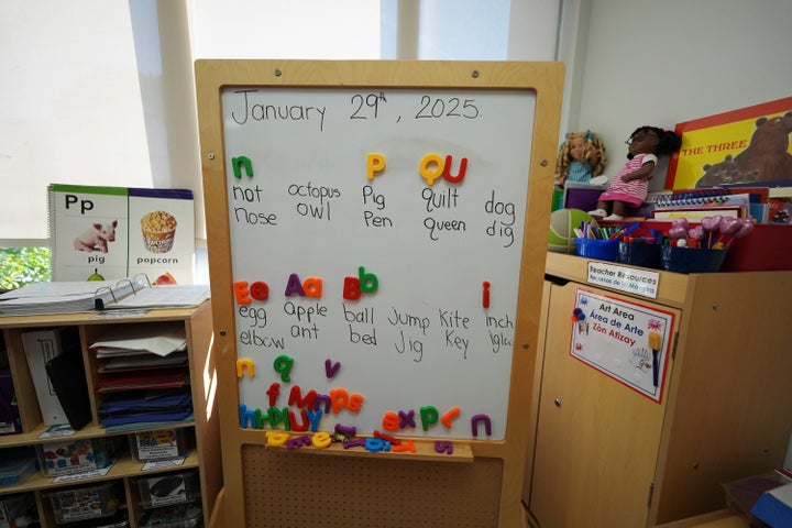
[[[338,427],[355,431],[355,463],[406,475],[452,451],[471,474],[498,460],[493,508],[516,519],[561,65],[199,61],[196,74],[227,519],[254,512],[251,444]],[[414,460],[375,432],[417,444]],[[266,449],[290,477],[304,470],[304,453]]]

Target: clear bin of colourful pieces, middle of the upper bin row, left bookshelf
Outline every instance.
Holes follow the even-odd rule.
[[[42,473],[62,476],[107,468],[123,446],[123,437],[82,438],[43,443],[36,450]]]

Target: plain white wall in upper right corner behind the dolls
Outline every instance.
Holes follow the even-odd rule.
[[[564,35],[568,46],[581,35],[566,125],[600,134],[608,176],[637,127],[673,128],[792,94],[790,0],[566,3],[588,14]],[[662,187],[664,177],[654,179],[652,188]]]

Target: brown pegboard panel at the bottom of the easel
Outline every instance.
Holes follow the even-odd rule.
[[[503,461],[474,464],[243,449],[245,519],[262,528],[497,526]],[[280,475],[280,476],[273,476]],[[264,498],[266,497],[266,498]]]

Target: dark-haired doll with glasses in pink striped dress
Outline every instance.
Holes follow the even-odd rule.
[[[588,211],[594,218],[622,220],[628,206],[640,207],[649,194],[649,180],[658,162],[657,156],[676,151],[682,144],[682,138],[672,130],[641,127],[632,132],[626,143],[628,162],[600,195],[597,208]]]

